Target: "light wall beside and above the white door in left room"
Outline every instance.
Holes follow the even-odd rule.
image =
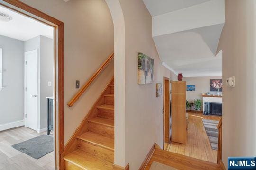
[[[27,40],[24,45],[25,52],[38,49],[38,124],[37,131],[42,132],[47,127],[46,97],[53,96],[54,79],[54,43],[53,39],[39,35]],[[48,81],[52,86],[48,86]]]

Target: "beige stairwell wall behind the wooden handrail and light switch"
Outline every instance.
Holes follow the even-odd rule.
[[[114,28],[104,0],[21,0],[64,22],[64,143],[72,136],[114,75],[113,62],[95,80],[79,101],[67,103],[114,51]]]

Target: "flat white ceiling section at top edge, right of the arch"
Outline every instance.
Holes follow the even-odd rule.
[[[152,17],[210,0],[143,0]]]

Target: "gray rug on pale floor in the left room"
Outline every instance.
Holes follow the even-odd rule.
[[[12,147],[32,158],[39,159],[46,154],[53,152],[53,144],[52,136],[40,135],[33,139],[14,144]]]

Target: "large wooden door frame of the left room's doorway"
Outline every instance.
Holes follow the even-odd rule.
[[[63,169],[64,151],[64,23],[19,0],[0,0],[0,4],[55,28],[54,100],[55,100],[55,169]]]

